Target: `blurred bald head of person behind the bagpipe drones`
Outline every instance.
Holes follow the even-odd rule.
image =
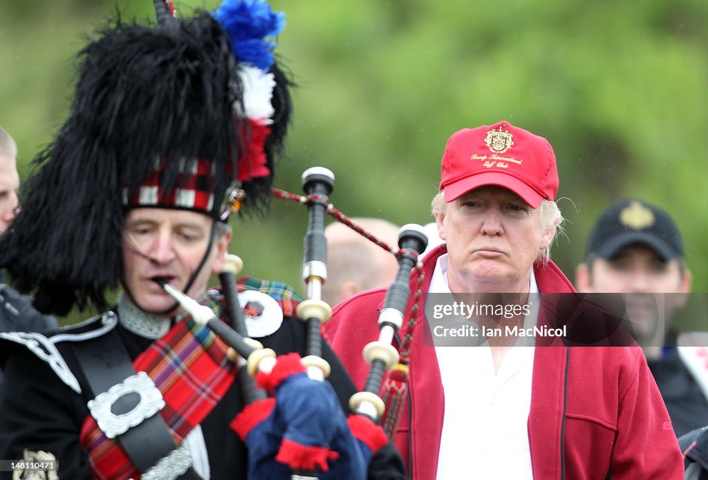
[[[393,223],[380,218],[351,218],[351,221],[391,247],[398,245],[399,228]],[[322,300],[329,305],[394,281],[398,260],[391,252],[343,223],[329,224],[324,235],[327,238],[327,281],[322,287]]]

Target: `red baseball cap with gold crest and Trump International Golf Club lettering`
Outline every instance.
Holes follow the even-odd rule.
[[[509,122],[456,131],[442,154],[440,190],[450,202],[477,187],[510,189],[537,209],[558,193],[551,144]]]

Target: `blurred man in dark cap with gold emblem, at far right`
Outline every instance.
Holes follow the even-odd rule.
[[[677,349],[671,317],[691,288],[681,235],[669,214],[639,199],[600,213],[576,269],[581,292],[620,293],[677,435],[708,424],[708,402]]]

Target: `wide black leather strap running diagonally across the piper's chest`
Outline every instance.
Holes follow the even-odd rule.
[[[79,341],[74,344],[79,365],[84,370],[89,383],[90,394],[96,395],[107,391],[113,385],[135,375],[132,361],[123,345],[118,331],[98,336],[90,341]],[[136,402],[130,396],[123,396],[113,404],[113,410],[118,412],[131,411]],[[133,465],[144,473],[177,448],[169,428],[161,415],[155,414],[146,418],[137,426],[129,428],[117,437],[125,453]],[[198,480],[193,469],[189,469],[179,477],[180,480]]]

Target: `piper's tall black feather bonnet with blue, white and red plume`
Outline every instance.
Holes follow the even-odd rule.
[[[0,265],[40,311],[108,305],[126,209],[224,221],[238,188],[242,210],[263,211],[292,113],[270,40],[284,25],[264,1],[227,0],[214,13],[157,27],[115,21],[91,36],[69,117],[33,160],[0,238]]]

